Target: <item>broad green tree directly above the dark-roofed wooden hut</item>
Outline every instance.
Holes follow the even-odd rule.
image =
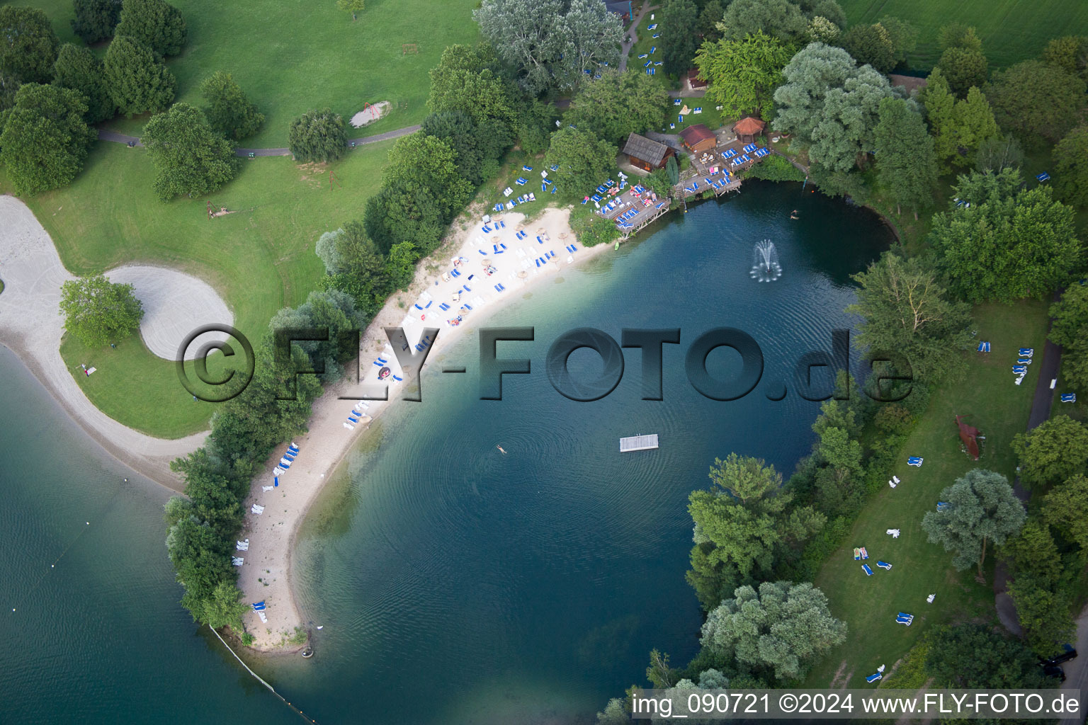
[[[668,101],[665,87],[645,73],[609,70],[578,91],[564,120],[579,130],[620,143],[632,133],[659,128]]]

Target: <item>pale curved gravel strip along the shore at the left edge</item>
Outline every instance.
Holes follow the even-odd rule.
[[[0,343],[11,348],[91,438],[112,455],[164,486],[181,489],[170,462],[203,443],[207,433],[165,440],[133,430],[97,408],[61,358],[61,284],[74,277],[34,213],[0,196]],[[176,348],[175,348],[176,349]]]

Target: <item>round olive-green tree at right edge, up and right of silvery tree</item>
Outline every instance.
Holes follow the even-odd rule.
[[[1012,449],[1019,458],[1021,482],[1029,488],[1047,486],[1085,473],[1088,428],[1056,415],[1013,436]]]

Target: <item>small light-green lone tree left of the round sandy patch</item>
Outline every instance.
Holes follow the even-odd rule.
[[[113,284],[104,275],[69,279],[61,285],[64,332],[88,348],[128,337],[139,329],[144,305],[132,285]]]

